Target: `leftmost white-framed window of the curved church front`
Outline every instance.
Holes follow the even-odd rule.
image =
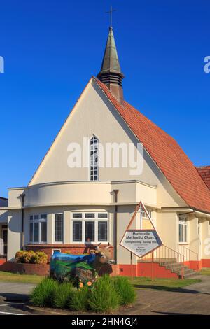
[[[31,244],[44,244],[47,242],[46,214],[29,216],[29,240]]]

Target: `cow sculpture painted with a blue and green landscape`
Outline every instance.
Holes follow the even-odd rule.
[[[58,281],[94,281],[100,269],[111,260],[110,246],[100,246],[90,250],[89,254],[70,255],[55,253],[50,260],[50,276]]]

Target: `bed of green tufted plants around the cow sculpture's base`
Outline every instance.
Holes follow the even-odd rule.
[[[112,313],[120,307],[130,307],[137,297],[134,287],[123,276],[104,275],[93,285],[88,283],[76,288],[71,282],[45,278],[31,293],[31,303],[35,307],[73,312]]]

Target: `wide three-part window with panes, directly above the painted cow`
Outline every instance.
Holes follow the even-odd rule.
[[[109,217],[107,213],[72,213],[72,243],[109,242]]]

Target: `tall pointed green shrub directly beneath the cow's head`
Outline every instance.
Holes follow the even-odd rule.
[[[90,309],[95,312],[113,311],[120,306],[120,295],[109,275],[102,276],[94,283],[89,297]]]

